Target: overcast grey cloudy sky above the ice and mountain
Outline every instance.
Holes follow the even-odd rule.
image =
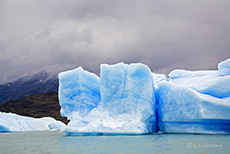
[[[227,58],[229,0],[0,0],[0,84],[118,62],[167,75]]]

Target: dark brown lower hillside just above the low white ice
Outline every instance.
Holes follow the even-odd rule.
[[[0,111],[2,112],[11,112],[35,118],[53,117],[67,124],[68,120],[61,117],[60,109],[57,92],[34,94],[0,104]]]

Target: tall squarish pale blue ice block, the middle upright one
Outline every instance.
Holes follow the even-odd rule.
[[[154,86],[146,65],[102,64],[100,77],[102,109],[116,123],[123,123],[117,132],[152,133],[156,130]]]

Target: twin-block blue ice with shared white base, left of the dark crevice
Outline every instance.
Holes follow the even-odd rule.
[[[150,69],[140,63],[130,65],[124,63],[102,64],[100,69],[100,83],[95,74],[82,69],[59,75],[60,105],[64,107],[64,110],[67,108],[70,111],[68,116],[71,117],[69,118],[71,121],[64,131],[69,135],[147,134],[155,132],[156,101]],[[79,79],[79,72],[86,75],[81,80]],[[75,81],[72,82],[69,77],[75,78]],[[79,87],[82,81],[88,86]],[[68,85],[70,83],[71,86]],[[92,84],[95,85],[89,86]],[[66,89],[68,89],[68,94],[71,93],[71,97],[66,95]],[[77,97],[88,91],[94,93],[90,92],[86,93],[85,97]],[[76,98],[73,98],[72,95]],[[71,101],[69,101],[70,99]],[[92,106],[79,107],[78,104],[82,104],[82,106],[83,104],[92,104]],[[72,109],[73,106],[74,109]],[[67,113],[63,110],[61,112]],[[81,115],[81,112],[85,114]]]

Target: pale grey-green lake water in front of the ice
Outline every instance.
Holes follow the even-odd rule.
[[[66,136],[59,131],[0,133],[2,154],[230,153],[230,135]]]

